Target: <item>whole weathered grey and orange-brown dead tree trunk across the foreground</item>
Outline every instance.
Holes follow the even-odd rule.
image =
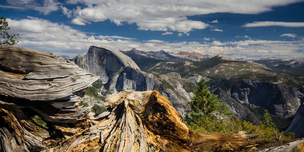
[[[98,77],[50,53],[0,47],[0,78],[4,152],[304,150],[303,139],[267,143],[244,132],[194,133],[155,90],[114,94],[104,102],[107,111],[94,116],[91,107],[79,106],[79,92]],[[49,128],[38,126],[34,115]]]

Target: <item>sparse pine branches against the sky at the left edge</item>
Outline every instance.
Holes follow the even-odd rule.
[[[19,36],[19,34],[9,35],[8,31],[10,31],[11,28],[9,27],[9,23],[5,20],[6,18],[4,18],[3,16],[0,17],[0,45],[15,45],[19,42],[16,41],[16,39],[21,39],[21,37]],[[1,38],[5,40],[1,41]]]

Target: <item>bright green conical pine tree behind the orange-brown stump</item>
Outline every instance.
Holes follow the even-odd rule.
[[[195,123],[214,116],[232,117],[233,113],[230,112],[223,101],[217,97],[217,95],[208,91],[205,80],[201,79],[194,91],[194,96],[191,98],[191,101],[187,103],[190,105],[191,110],[187,111],[185,121]]]

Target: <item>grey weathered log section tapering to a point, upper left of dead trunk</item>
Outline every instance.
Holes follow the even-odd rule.
[[[99,77],[64,57],[0,46],[0,94],[37,101],[70,99]]]

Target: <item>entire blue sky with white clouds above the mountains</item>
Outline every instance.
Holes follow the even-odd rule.
[[[0,0],[17,46],[304,57],[304,0]]]

